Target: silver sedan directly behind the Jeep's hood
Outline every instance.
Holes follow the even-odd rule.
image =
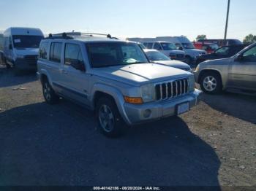
[[[145,49],[144,52],[151,63],[159,63],[165,66],[171,66],[176,69],[192,72],[192,69],[187,63],[181,61],[174,61],[164,55],[162,52],[157,50]]]

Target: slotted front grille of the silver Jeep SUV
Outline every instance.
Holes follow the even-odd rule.
[[[176,98],[189,93],[189,79],[178,79],[155,85],[157,101]]]

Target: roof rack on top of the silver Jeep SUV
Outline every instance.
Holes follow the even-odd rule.
[[[97,33],[81,33],[81,32],[67,32],[59,34],[49,34],[47,39],[74,39],[74,36],[106,36],[109,39],[117,39],[110,34],[97,34]]]

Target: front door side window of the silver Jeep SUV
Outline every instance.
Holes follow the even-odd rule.
[[[82,52],[78,44],[66,44],[65,46],[65,64],[70,65],[74,61],[83,63]]]

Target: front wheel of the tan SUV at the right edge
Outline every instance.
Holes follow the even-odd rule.
[[[200,87],[204,93],[220,93],[222,91],[222,79],[216,72],[206,72],[202,77],[200,77]]]

